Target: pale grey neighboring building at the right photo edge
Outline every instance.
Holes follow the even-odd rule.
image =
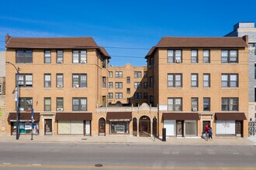
[[[256,28],[254,22],[238,22],[226,36],[248,36],[249,120],[256,121]]]

